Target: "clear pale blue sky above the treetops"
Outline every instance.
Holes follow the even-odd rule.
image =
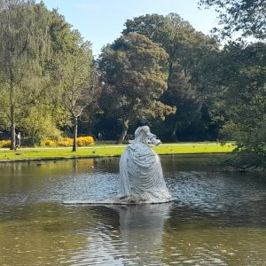
[[[37,1],[40,2],[40,1]],[[198,9],[198,0],[43,0],[49,10],[58,8],[66,21],[78,29],[92,52],[98,56],[101,48],[121,35],[126,20],[157,13],[179,14],[205,34],[217,24],[216,13]]]

